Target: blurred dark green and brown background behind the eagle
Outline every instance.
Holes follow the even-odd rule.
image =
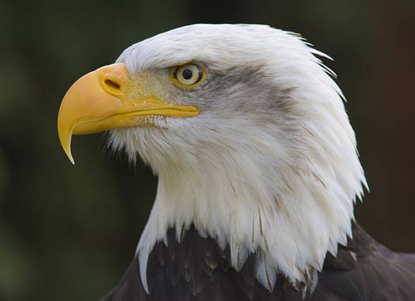
[[[358,221],[415,252],[415,1],[4,1],[0,6],[0,300],[97,300],[131,261],[155,197],[102,135],[56,133],[61,97],[123,49],[191,23],[300,32],[335,61],[371,193]]]

